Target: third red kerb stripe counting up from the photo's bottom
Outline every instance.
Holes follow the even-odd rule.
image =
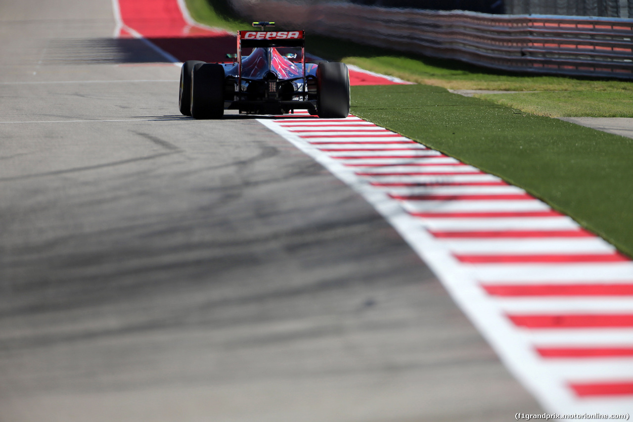
[[[523,328],[622,328],[633,327],[633,314],[508,315]]]

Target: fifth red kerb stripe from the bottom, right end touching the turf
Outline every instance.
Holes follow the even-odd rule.
[[[460,262],[468,264],[550,264],[558,262],[627,262],[629,259],[620,253],[570,253],[548,255],[455,255]]]

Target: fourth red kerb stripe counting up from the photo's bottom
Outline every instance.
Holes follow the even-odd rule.
[[[539,285],[482,285],[489,295],[501,297],[521,296],[633,296],[633,283],[629,284],[539,284]]]

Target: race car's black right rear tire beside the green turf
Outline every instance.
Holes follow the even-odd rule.
[[[348,117],[349,70],[345,63],[319,63],[316,68],[316,110],[318,117]]]

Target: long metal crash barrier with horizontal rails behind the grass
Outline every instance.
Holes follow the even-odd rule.
[[[232,5],[249,18],[275,18],[312,33],[489,68],[633,79],[633,19],[280,0],[232,0]]]

